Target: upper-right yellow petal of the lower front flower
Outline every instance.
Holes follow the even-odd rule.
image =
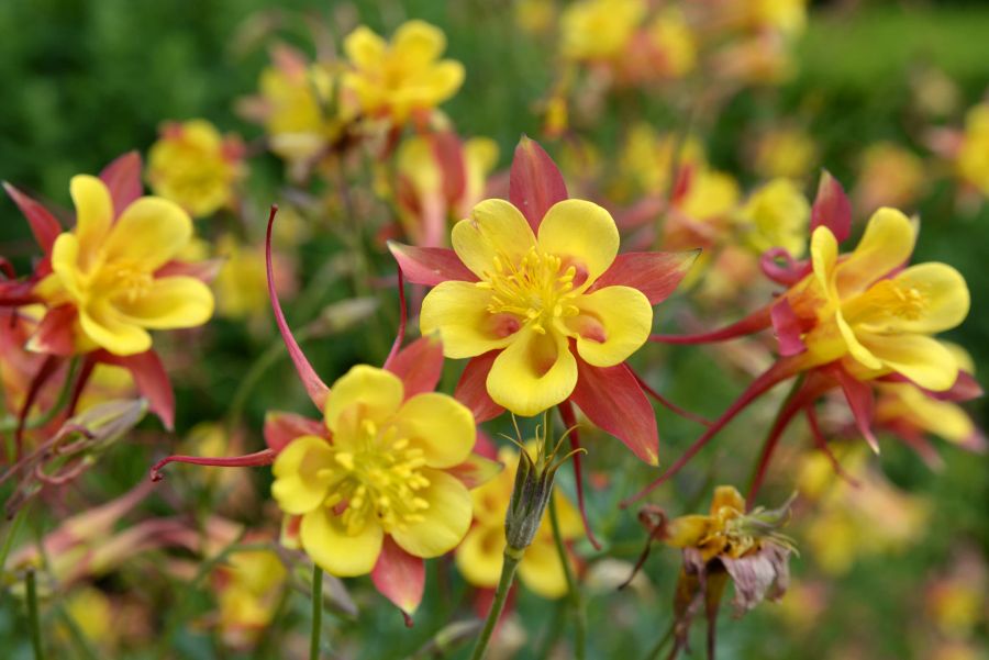
[[[477,436],[474,415],[446,394],[426,392],[402,404],[395,415],[400,437],[425,451],[431,468],[452,468],[470,456]]]

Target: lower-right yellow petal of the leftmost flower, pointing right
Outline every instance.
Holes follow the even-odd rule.
[[[144,295],[131,301],[120,294],[113,303],[125,321],[152,329],[195,327],[213,315],[210,288],[184,276],[155,279]]]

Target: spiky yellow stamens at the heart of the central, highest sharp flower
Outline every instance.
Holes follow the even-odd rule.
[[[570,302],[577,295],[577,269],[568,266],[560,273],[562,269],[563,259],[532,247],[518,266],[503,255],[496,256],[494,272],[485,272],[485,280],[477,286],[492,292],[488,312],[512,314],[545,334],[547,323],[580,313]]]

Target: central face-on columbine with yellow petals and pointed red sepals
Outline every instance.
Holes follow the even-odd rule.
[[[423,301],[422,332],[440,334],[446,357],[474,358],[458,396],[486,411],[479,418],[502,407],[530,416],[573,400],[655,465],[655,416],[624,360],[696,253],[619,256],[608,211],[566,199],[556,166],[527,138],[509,197],[479,203],[457,223],[453,250],[391,245],[410,280],[435,287]]]

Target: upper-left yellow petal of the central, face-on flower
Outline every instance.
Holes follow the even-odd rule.
[[[485,200],[478,203],[470,217],[454,225],[451,243],[460,261],[474,275],[485,279],[486,273],[518,265],[535,236],[522,213],[504,200]]]

